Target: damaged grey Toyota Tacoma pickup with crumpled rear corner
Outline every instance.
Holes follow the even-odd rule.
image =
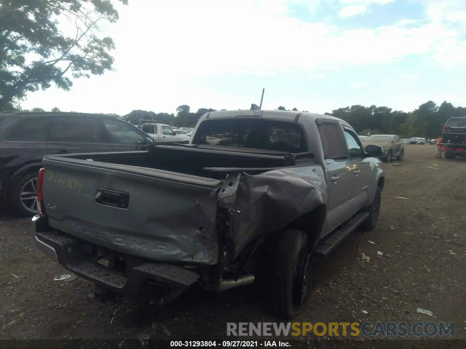
[[[382,152],[328,115],[207,113],[189,144],[44,157],[33,240],[102,300],[149,291],[166,302],[196,283],[256,280],[292,319],[315,257],[374,229]]]

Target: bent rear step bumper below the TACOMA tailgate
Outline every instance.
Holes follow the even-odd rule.
[[[134,260],[130,256],[126,271],[117,272],[113,269],[114,262],[108,267],[97,262],[100,254],[98,246],[50,229],[47,216],[33,217],[32,233],[34,246],[48,258],[83,279],[121,295],[136,296],[148,283],[157,284],[167,289],[167,293],[173,293],[186,289],[199,279],[199,274],[190,270],[167,263]],[[90,254],[89,248],[92,251]],[[120,259],[123,260],[122,258]]]

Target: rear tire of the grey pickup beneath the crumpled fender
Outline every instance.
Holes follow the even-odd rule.
[[[274,314],[292,320],[306,307],[314,283],[314,256],[308,236],[287,230],[276,241],[272,261],[271,298]]]

